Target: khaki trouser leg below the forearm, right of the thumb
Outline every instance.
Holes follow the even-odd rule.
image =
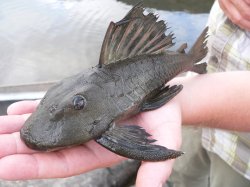
[[[181,150],[169,181],[173,187],[208,187],[210,160],[201,145],[201,129],[183,128]]]

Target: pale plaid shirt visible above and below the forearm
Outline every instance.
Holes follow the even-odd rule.
[[[211,33],[208,71],[250,70],[250,32],[228,20],[217,1],[208,25]],[[203,129],[202,145],[250,180],[250,133]]]

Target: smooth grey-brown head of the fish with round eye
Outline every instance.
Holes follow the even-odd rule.
[[[100,136],[111,123],[104,90],[93,83],[66,79],[48,90],[20,131],[35,150],[79,145]]]

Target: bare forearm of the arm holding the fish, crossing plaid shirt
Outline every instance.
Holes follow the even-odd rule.
[[[250,72],[188,78],[177,96],[185,125],[250,131]]]

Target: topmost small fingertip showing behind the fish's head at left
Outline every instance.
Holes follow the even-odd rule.
[[[7,113],[9,115],[32,113],[35,111],[39,102],[40,102],[40,100],[19,101],[19,102],[13,103],[8,107]]]

